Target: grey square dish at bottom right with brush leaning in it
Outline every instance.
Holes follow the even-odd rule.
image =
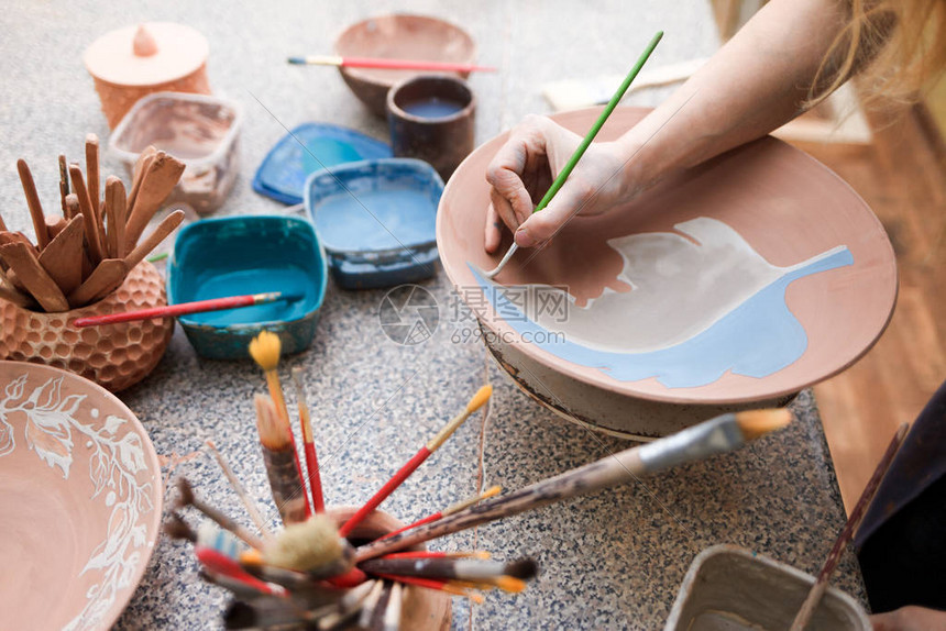
[[[707,547],[693,560],[663,631],[788,629],[815,578],[736,545]],[[869,631],[857,601],[828,587],[811,629]]]

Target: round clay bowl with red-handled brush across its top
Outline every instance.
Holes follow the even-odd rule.
[[[382,15],[349,26],[336,40],[336,55],[342,57],[383,57],[428,62],[473,64],[476,44],[465,31],[425,15]],[[352,92],[375,115],[385,115],[387,91],[419,70],[339,68]],[[470,73],[458,73],[466,78]]]

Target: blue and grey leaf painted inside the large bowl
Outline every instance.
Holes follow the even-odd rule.
[[[573,307],[569,313],[569,318],[579,313],[586,319],[587,322],[581,330],[594,340],[588,342],[585,339],[575,339],[574,335],[570,340],[564,329],[557,328],[549,318],[542,319],[540,313],[527,316],[516,303],[514,288],[498,287],[474,266],[470,267],[496,312],[524,339],[544,351],[574,364],[597,368],[622,381],[652,377],[668,388],[691,388],[712,384],[727,370],[762,378],[798,361],[807,347],[807,335],[785,303],[788,286],[798,278],[854,263],[850,251],[846,246],[838,246],[798,265],[777,267],[758,255],[736,231],[718,220],[698,218],[674,228],[691,240],[672,233],[625,237],[623,241],[627,247],[624,251],[618,250],[625,258],[625,269],[618,278],[634,287],[631,294],[648,287],[650,283],[649,300],[657,303],[653,308],[672,310],[676,307],[674,301],[684,302],[688,298],[692,299],[686,292],[688,288],[705,289],[701,286],[717,280],[721,274],[729,274],[729,285],[718,284],[717,288],[732,288],[733,300],[728,307],[717,308],[715,311],[701,310],[691,305],[689,309],[683,309],[684,313],[692,316],[689,320],[675,323],[675,328],[664,326],[663,339],[668,343],[651,344],[649,347],[639,342],[635,347],[634,337],[627,334],[627,330],[608,330],[602,322],[596,322],[593,313],[594,301],[586,308]],[[652,256],[652,261],[635,261],[635,248],[652,244],[648,239],[669,239],[670,247],[667,252]],[[609,245],[614,247],[615,241],[609,242]],[[701,248],[706,250],[700,252]],[[705,267],[707,261],[712,262],[716,253],[724,251],[730,261],[722,269]],[[698,253],[698,256],[694,256],[694,253]],[[679,278],[675,275],[685,275],[696,279],[695,284],[678,284],[676,296],[673,291],[662,291],[663,288],[659,286],[661,274],[654,273],[648,277],[635,269],[637,265],[646,267],[646,263],[652,264],[653,270],[666,273],[669,269],[674,278]],[[706,276],[711,278],[704,280]],[[735,281],[732,280],[733,277],[736,278]],[[623,296],[625,295],[610,294],[598,300],[609,300],[608,308],[616,309],[620,307],[616,302]],[[637,298],[639,297],[640,295]],[[725,306],[725,301],[723,305]],[[644,313],[639,309],[648,308],[648,303],[636,305],[635,308],[638,311],[628,310],[626,317],[622,316],[623,324],[627,328],[637,323],[636,317]],[[711,312],[708,316],[707,311]],[[653,313],[650,316],[652,322],[663,323],[659,313],[657,317]],[[540,323],[537,320],[543,321]],[[620,343],[608,344],[609,335],[620,340]],[[620,351],[616,352],[609,347],[618,347]]]

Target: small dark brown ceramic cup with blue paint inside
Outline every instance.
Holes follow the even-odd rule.
[[[387,123],[396,157],[430,163],[443,181],[473,151],[476,97],[448,75],[407,79],[387,93]]]

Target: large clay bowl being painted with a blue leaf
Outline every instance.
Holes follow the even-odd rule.
[[[553,118],[584,134],[598,112],[600,109],[593,108]],[[617,137],[645,114],[645,110],[619,108],[598,139]],[[770,405],[851,365],[877,341],[890,319],[897,298],[897,268],[893,250],[878,219],[825,166],[781,141],[766,137],[667,179],[638,198],[632,212],[614,209],[595,218],[574,219],[538,254],[520,251],[498,280],[505,286],[565,286],[579,301],[570,307],[568,314],[575,318],[576,309],[583,308],[587,300],[601,298],[606,287],[630,291],[627,283],[617,280],[625,261],[608,245],[609,240],[671,233],[676,241],[686,240],[689,246],[701,247],[705,244],[679,228],[694,220],[723,225],[729,233],[736,233],[772,269],[789,268],[818,255],[825,255],[825,261],[845,258],[816,273],[781,277],[783,289],[778,300],[768,303],[781,309],[779,318],[771,316],[771,309],[747,307],[748,311],[727,312],[710,322],[706,331],[715,335],[722,330],[717,324],[732,322],[727,318],[733,313],[738,312],[740,318],[748,313],[737,320],[737,335],[732,344],[710,345],[710,351],[698,356],[691,352],[676,366],[667,355],[653,356],[653,374],[647,373],[651,361],[648,355],[636,376],[609,363],[617,355],[624,362],[626,348],[601,359],[602,352],[610,348],[582,355],[562,346],[526,341],[535,340],[528,335],[535,333],[535,326],[529,331],[531,324],[510,317],[516,314],[515,310],[509,311],[508,303],[491,298],[496,288],[483,285],[482,277],[474,273],[474,268],[492,269],[499,258],[483,250],[483,225],[490,201],[484,174],[505,139],[499,136],[477,148],[448,182],[438,211],[437,243],[444,270],[479,318],[487,333],[486,343],[501,365],[532,396],[566,417],[615,433],[653,436],[697,422],[721,409]],[[508,243],[507,236],[503,252]],[[636,281],[635,273],[635,268],[627,272]],[[696,279],[694,287],[701,291],[705,290],[703,285],[712,281],[698,267],[684,267],[680,273]],[[670,276],[661,281],[672,279],[672,274],[667,274]],[[670,309],[671,318],[675,317],[678,303],[685,303],[673,292],[653,294],[652,309]],[[502,314],[495,305],[503,307]],[[651,305],[646,307],[650,309]],[[697,321],[704,317],[702,305],[691,305],[688,309]],[[609,335],[624,328],[640,330],[649,316],[647,311],[628,310],[626,319],[622,312],[619,318],[593,324]],[[640,332],[648,334],[646,330]],[[587,350],[581,336],[566,342],[583,346],[582,352]],[[790,346],[789,351],[795,355],[784,346]],[[769,366],[767,374],[754,374],[758,369],[751,366],[754,362],[771,363],[772,357],[785,353],[790,361],[783,362],[784,365],[774,369]],[[664,368],[670,373],[706,368],[703,364],[719,368],[718,376],[701,381],[692,376],[668,378],[661,373]],[[710,368],[706,369],[712,373]],[[693,383],[688,384],[688,379]],[[693,406],[692,413],[681,414],[680,405]]]

